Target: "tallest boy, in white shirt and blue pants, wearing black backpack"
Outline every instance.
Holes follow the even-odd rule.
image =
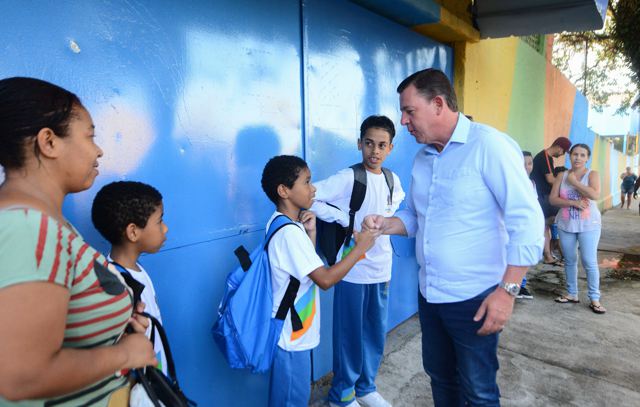
[[[362,152],[367,189],[362,206],[355,214],[356,230],[360,230],[366,215],[393,216],[404,199],[398,176],[391,173],[393,183],[388,183],[382,170],[382,164],[393,149],[394,136],[393,122],[386,116],[369,116],[360,126],[358,150]],[[347,227],[353,185],[354,170],[351,168],[316,183],[316,202],[312,210],[318,218],[335,220]],[[337,258],[341,258],[344,252],[343,246]],[[389,236],[381,236],[336,285],[333,297],[333,382],[329,391],[331,406],[390,406],[377,392],[375,378],[387,334],[391,259]]]

